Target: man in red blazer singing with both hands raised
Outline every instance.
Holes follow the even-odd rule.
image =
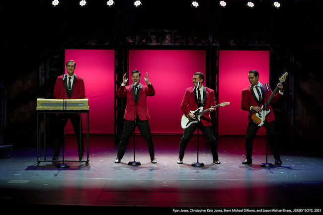
[[[132,84],[126,86],[128,78],[126,74],[123,75],[123,82],[117,92],[119,98],[127,97],[127,106],[124,115],[123,133],[119,143],[118,155],[115,163],[120,163],[124,153],[126,152],[127,145],[130,137],[138,127],[140,134],[144,137],[148,145],[148,151],[152,163],[157,163],[155,158],[153,136],[150,131],[148,119],[150,119],[147,108],[147,96],[154,96],[155,89],[149,81],[148,72],[146,73],[145,81],[147,85],[142,85],[141,74],[138,70],[131,73]],[[136,111],[136,112],[135,112]]]

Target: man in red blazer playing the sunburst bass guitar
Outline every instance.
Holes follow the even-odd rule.
[[[266,87],[263,86],[259,82],[259,72],[255,70],[251,70],[248,73],[248,79],[251,83],[250,86],[247,86],[242,90],[241,96],[241,108],[242,110],[248,111],[249,114],[251,112],[261,112],[261,106],[267,102],[268,98],[272,94],[272,90],[269,85],[266,84]],[[267,89],[268,86],[268,89]],[[272,103],[276,103],[283,95],[283,85],[281,83],[277,84],[277,87],[280,89],[279,92],[274,95],[273,99],[271,100]],[[265,90],[267,92],[265,92]],[[268,94],[268,97],[267,97]],[[268,105],[268,110],[270,109],[269,114],[267,115],[267,123],[264,123],[264,127],[267,129],[269,134],[269,140],[271,140],[273,145],[273,153],[275,158],[276,164],[282,164],[279,154],[279,147],[278,147],[278,139],[277,139],[277,131],[275,125],[275,114],[271,108],[271,105]],[[247,127],[247,134],[245,137],[245,151],[246,151],[246,158],[243,160],[242,164],[251,164],[252,163],[252,143],[253,139],[255,138],[257,131],[260,127],[255,125],[248,120],[248,127]]]

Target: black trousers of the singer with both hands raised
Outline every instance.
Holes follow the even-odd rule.
[[[125,154],[127,145],[129,143],[131,135],[134,132],[136,126],[138,127],[140,134],[147,142],[148,151],[149,151],[151,160],[154,159],[155,149],[154,149],[153,136],[150,131],[149,122],[148,120],[141,121],[138,117],[136,119],[136,123],[134,121],[125,120],[123,125],[123,133],[119,143],[117,158],[121,159]]]

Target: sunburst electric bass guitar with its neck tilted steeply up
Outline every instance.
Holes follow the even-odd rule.
[[[281,76],[279,78],[279,82],[282,83],[286,80],[286,76],[288,75],[288,72],[285,72],[285,74],[283,74],[283,76]],[[251,122],[253,122],[254,124],[260,126],[263,126],[266,116],[270,113],[270,109],[267,110],[267,107],[269,106],[271,100],[273,99],[273,97],[276,95],[276,93],[278,92],[279,88],[278,86],[275,88],[275,90],[273,91],[273,93],[271,94],[271,96],[268,98],[267,102],[261,106],[261,111],[259,113],[252,111],[249,114],[249,119]]]

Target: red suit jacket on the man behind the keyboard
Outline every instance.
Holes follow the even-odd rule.
[[[76,74],[75,74],[76,75]],[[69,97],[67,94],[66,89],[64,89],[64,83],[63,83],[63,75],[58,76],[55,88],[54,88],[54,98],[56,99],[63,99],[63,92],[65,91],[65,99],[77,99],[77,98],[85,98],[85,87],[84,87],[84,80],[80,76],[74,77],[74,85],[73,85],[73,93],[72,96]]]

